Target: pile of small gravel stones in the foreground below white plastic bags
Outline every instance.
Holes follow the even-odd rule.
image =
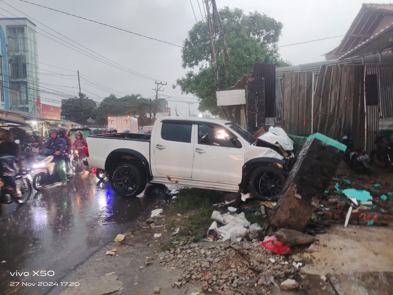
[[[173,287],[187,282],[201,284],[202,291],[228,295],[265,294],[270,288],[298,288],[298,270],[303,265],[276,255],[260,242],[179,243],[177,249],[160,253],[163,267],[181,269]]]

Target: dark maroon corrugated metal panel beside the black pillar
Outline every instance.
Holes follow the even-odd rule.
[[[254,79],[264,78],[265,84],[265,115],[275,117],[275,65],[255,63]]]

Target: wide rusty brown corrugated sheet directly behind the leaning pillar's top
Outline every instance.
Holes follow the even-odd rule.
[[[364,66],[321,66],[314,94],[313,131],[336,140],[351,133],[365,144]]]

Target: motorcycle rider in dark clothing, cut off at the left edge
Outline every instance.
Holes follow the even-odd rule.
[[[22,168],[22,161],[20,160],[20,150],[18,144],[13,140],[12,134],[9,131],[6,131],[2,135],[2,142],[0,143],[0,155],[9,155],[15,157],[17,160],[19,168]],[[11,167],[13,168],[13,167]],[[3,170],[4,167],[3,167]],[[14,169],[11,169],[14,170]],[[8,174],[8,175],[5,175]],[[17,183],[15,182],[15,170],[8,171],[6,173],[3,171],[3,180],[6,185],[9,185],[9,190],[14,191],[14,197],[20,197],[20,191],[17,189]]]

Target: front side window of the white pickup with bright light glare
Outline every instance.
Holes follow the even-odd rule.
[[[241,148],[242,144],[226,128],[212,124],[198,124],[198,144]]]

